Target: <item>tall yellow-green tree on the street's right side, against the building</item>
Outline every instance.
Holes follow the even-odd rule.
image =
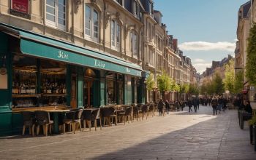
[[[234,92],[234,81],[235,81],[235,62],[230,60],[225,65],[225,79],[223,80],[225,89]]]

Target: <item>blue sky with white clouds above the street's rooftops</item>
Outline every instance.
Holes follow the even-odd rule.
[[[235,55],[238,9],[249,0],[154,0],[168,34],[192,60],[197,72],[212,60]]]

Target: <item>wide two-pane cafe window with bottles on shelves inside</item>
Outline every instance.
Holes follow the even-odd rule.
[[[66,65],[14,55],[12,108],[66,105]]]

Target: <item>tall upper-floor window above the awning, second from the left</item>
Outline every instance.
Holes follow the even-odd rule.
[[[99,41],[99,13],[93,7],[86,5],[85,33],[93,41]]]

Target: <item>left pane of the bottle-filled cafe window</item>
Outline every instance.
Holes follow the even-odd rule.
[[[37,106],[37,60],[14,55],[12,69],[12,108]]]

